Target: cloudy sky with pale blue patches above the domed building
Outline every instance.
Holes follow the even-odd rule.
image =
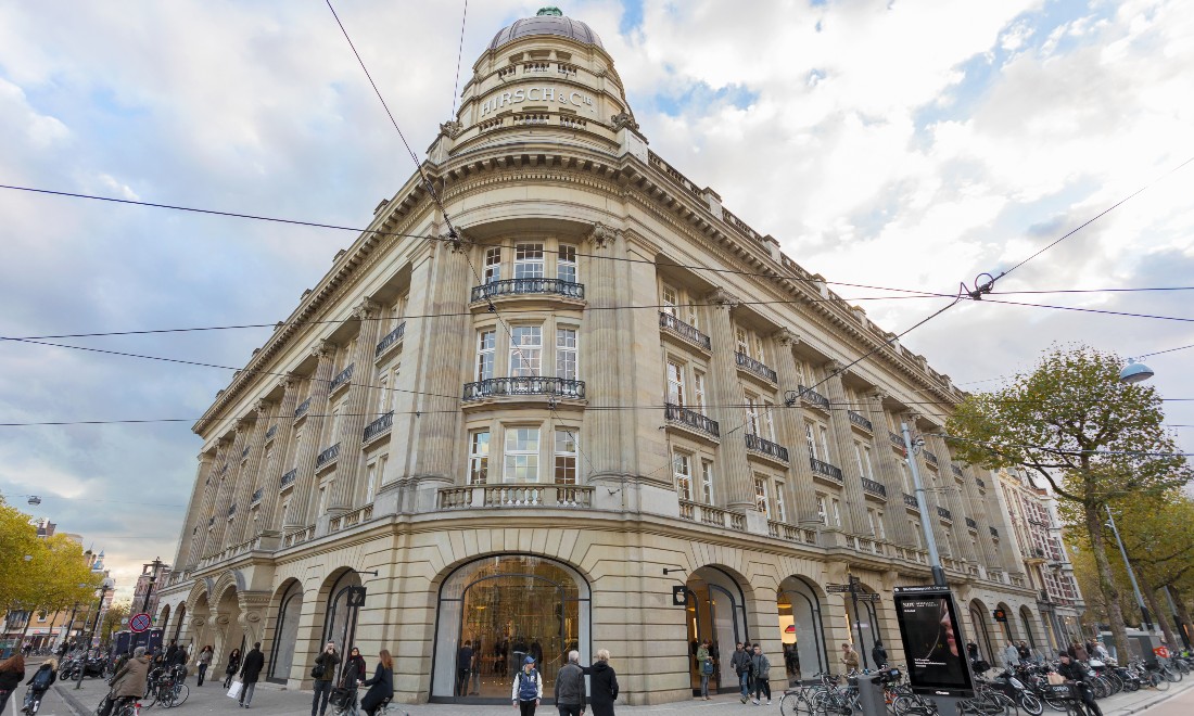
[[[540,2],[474,0],[463,69]],[[1194,284],[1194,5],[683,0],[561,6],[603,38],[651,147],[806,268],[954,292],[1149,189],[998,292]],[[463,2],[339,0],[417,149],[453,109]],[[0,5],[0,184],[365,226],[412,171],[322,2]],[[272,325],[351,233],[0,190],[0,333]],[[901,331],[940,300],[837,289]],[[964,388],[1054,341],[1194,344],[1188,291],[1014,294],[911,333]],[[890,295],[888,295],[890,296]],[[867,300],[862,300],[867,298]],[[47,339],[239,366],[270,331]],[[1194,399],[1194,350],[1149,359]],[[201,415],[230,371],[0,344],[0,493],[105,549],[172,560]],[[1194,402],[1167,403],[1194,425]],[[1194,428],[1175,427],[1194,450]],[[30,508],[33,510],[33,508]]]

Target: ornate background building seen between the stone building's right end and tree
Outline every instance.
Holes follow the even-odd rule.
[[[1047,647],[1052,652],[1077,641],[1085,641],[1078,617],[1087,605],[1073,576],[1073,564],[1061,539],[1057,498],[1047,487],[1039,487],[1023,469],[999,470],[999,489],[1008,505],[1016,547],[1023,570],[1036,592],[1036,610],[1048,626]]]

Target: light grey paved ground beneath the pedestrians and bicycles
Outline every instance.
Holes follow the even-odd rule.
[[[195,687],[195,679],[191,681],[191,696],[185,704],[178,706],[178,716],[195,716],[207,714],[238,714],[236,704],[224,696],[224,690],[217,684],[207,684],[203,687]],[[39,716],[87,716],[94,711],[96,704],[103,696],[104,683],[88,679],[84,681],[81,690],[75,691],[74,684],[55,685],[51,696],[43,702]],[[24,696],[24,690],[19,692]],[[64,697],[64,700],[63,700]],[[20,699],[14,698],[16,709],[20,706]],[[1194,714],[1194,679],[1184,679],[1173,685],[1163,693],[1155,691],[1139,691],[1135,693],[1120,693],[1112,698],[1098,702],[1104,716],[1128,716],[1130,714],[1149,714],[1149,716],[1189,716]],[[12,706],[10,706],[12,708]],[[18,711],[13,709],[13,714]],[[310,692],[294,692],[281,689],[272,684],[261,684],[253,697],[253,714],[259,716],[281,716],[282,714],[307,714],[310,709]],[[672,714],[678,711],[693,712],[695,716],[714,716],[716,714],[732,714],[734,716],[746,716],[747,714],[762,714],[778,711],[778,699],[775,705],[753,706],[740,704],[734,696],[719,696],[713,700],[691,700],[660,704],[656,706],[617,706],[618,714],[636,714],[648,716],[650,714]],[[516,712],[496,705],[455,705],[455,704],[419,704],[398,705],[390,710],[392,716],[475,716],[476,714],[497,714],[505,711]],[[165,709],[155,706],[149,714],[161,712]],[[555,709],[542,708],[543,716],[554,716]],[[1046,709],[1045,716],[1055,715]],[[160,715],[159,715],[160,716]],[[947,715],[948,716],[948,715]]]

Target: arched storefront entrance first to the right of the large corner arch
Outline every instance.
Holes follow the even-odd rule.
[[[746,597],[738,581],[720,567],[701,567],[688,578],[685,585],[688,606],[684,621],[688,625],[689,673],[693,692],[701,691],[701,665],[696,650],[701,642],[712,642],[713,677],[709,690],[738,690],[738,677],[731,665],[731,655],[738,642],[750,640],[746,628]]]

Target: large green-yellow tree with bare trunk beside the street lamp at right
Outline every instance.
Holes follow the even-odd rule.
[[[1127,653],[1107,556],[1107,505],[1168,494],[1190,471],[1164,428],[1156,390],[1120,383],[1122,365],[1114,353],[1054,347],[1032,372],[967,397],[947,430],[961,459],[991,469],[1023,465],[1052,486],[1063,518],[1089,538],[1112,634]]]

